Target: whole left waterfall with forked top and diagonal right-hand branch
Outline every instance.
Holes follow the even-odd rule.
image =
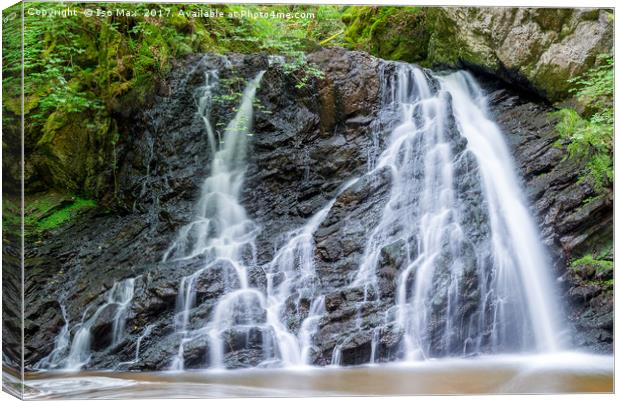
[[[206,265],[183,278],[177,299],[176,328],[183,338],[171,369],[184,368],[184,345],[207,337],[209,366],[225,367],[224,337],[232,333],[248,339],[260,333],[263,364],[276,362],[281,366],[304,365],[309,362],[312,335],[325,312],[318,278],[314,270],[314,239],[318,226],[334,204],[332,199],[308,222],[284,235],[283,245],[268,265],[263,266],[267,287],[263,291],[249,284],[248,268],[256,265],[254,239],[258,227],[247,217],[239,202],[243,184],[247,138],[252,123],[252,102],[262,78],[259,73],[246,87],[238,111],[225,129],[224,139],[214,141],[209,119],[210,102],[217,89],[217,74],[205,75],[205,85],[198,92],[198,114],[204,121],[211,144],[211,174],[205,180],[198,202],[198,218],[181,229],[179,236],[164,254],[166,260],[205,257]],[[221,145],[218,148],[217,145]],[[354,180],[347,182],[342,192]],[[251,255],[251,257],[248,257]],[[196,282],[210,268],[224,262],[232,266],[234,279],[227,283],[226,293],[217,301],[206,326],[190,329],[190,314],[196,300]],[[298,334],[292,333],[285,320],[286,302],[296,294],[295,309],[304,299],[311,299],[310,308],[302,318]]]

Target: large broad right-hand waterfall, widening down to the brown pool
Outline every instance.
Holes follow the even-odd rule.
[[[398,123],[373,162],[392,188],[352,285],[375,289],[382,250],[401,241],[405,358],[557,349],[545,252],[481,89],[463,71],[395,70],[380,118]]]

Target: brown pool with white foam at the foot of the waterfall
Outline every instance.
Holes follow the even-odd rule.
[[[613,391],[613,358],[494,355],[359,367],[185,372],[41,372],[26,399],[539,394]]]

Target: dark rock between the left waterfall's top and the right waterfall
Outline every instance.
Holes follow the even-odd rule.
[[[325,73],[296,89],[273,68],[263,77],[242,203],[262,224],[258,262],[273,257],[273,240],[301,226],[348,179],[366,168],[370,123],[379,103],[379,60],[342,49],[309,56]],[[277,195],[276,195],[277,194]]]

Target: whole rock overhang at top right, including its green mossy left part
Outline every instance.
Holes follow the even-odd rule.
[[[362,7],[343,20],[352,47],[427,66],[478,69],[552,102],[567,97],[569,79],[613,49],[613,14],[602,9]]]

